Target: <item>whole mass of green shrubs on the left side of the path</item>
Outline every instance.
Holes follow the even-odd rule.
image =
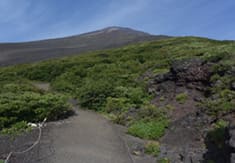
[[[70,111],[63,95],[44,92],[31,82],[17,76],[14,69],[0,71],[0,130],[18,132],[28,122],[41,122],[44,118],[57,120]]]

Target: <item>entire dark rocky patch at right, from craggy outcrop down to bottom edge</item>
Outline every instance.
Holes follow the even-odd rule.
[[[220,148],[208,137],[214,118],[198,107],[198,102],[206,98],[208,88],[223,84],[222,80],[210,82],[212,66],[214,63],[201,59],[175,61],[170,72],[156,75],[149,82],[149,92],[156,96],[152,102],[158,107],[173,108],[167,110],[172,123],[160,140],[160,158],[166,157],[172,162],[206,163],[213,160],[227,163],[231,160],[235,163],[235,124],[231,124],[230,137],[226,128],[223,148]],[[233,74],[233,70],[230,69],[229,74]],[[234,88],[235,83],[231,83],[231,89]],[[182,93],[186,94],[187,100],[179,103],[177,97]],[[210,98],[216,100],[220,97],[214,94]]]

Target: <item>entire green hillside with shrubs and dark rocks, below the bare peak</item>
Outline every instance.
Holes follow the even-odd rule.
[[[59,94],[42,93],[35,81]],[[150,140],[130,144],[131,153],[152,153],[159,162],[234,162],[233,41],[171,38],[0,68],[0,128],[63,117],[62,94]],[[9,153],[1,142],[0,159]]]

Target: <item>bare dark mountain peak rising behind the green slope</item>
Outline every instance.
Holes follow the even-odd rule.
[[[108,27],[65,38],[24,43],[2,43],[0,44],[0,66],[30,63],[165,38],[168,36],[150,35],[130,28]]]

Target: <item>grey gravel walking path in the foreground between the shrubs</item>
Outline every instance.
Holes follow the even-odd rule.
[[[118,131],[96,113],[79,110],[49,127],[54,153],[42,159],[44,163],[132,163]]]

